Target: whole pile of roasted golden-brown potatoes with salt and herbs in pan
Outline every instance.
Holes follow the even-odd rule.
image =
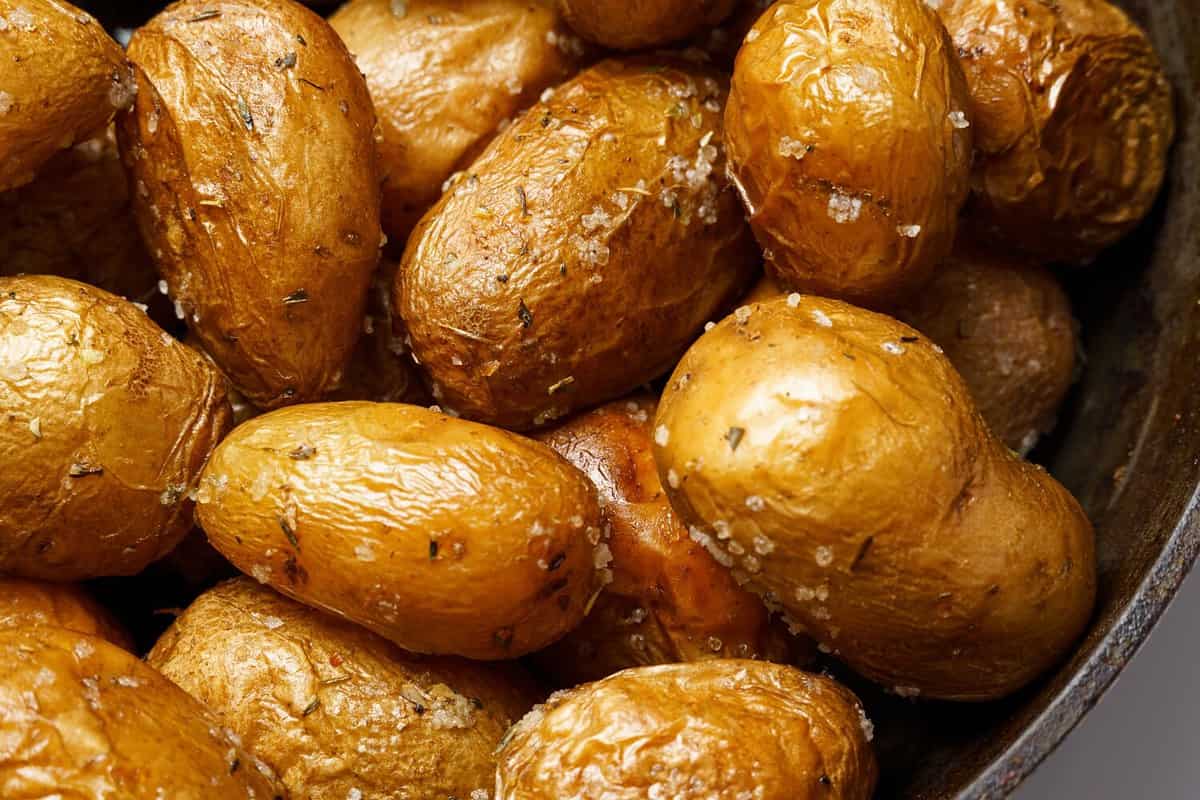
[[[1121,11],[312,5],[0,0],[5,796],[868,800],[823,664],[1072,650],[1054,270],[1174,136]],[[156,643],[85,583],[148,567]]]

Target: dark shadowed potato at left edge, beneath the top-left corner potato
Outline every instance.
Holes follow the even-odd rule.
[[[162,303],[112,127],[55,155],[26,186],[0,193],[0,275],[22,273]]]

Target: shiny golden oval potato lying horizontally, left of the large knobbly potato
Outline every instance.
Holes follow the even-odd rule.
[[[524,655],[599,590],[588,480],[544,445],[415,405],[245,422],[209,461],[197,517],[242,572],[414,652]]]

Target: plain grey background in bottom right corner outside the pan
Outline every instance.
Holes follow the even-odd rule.
[[[1198,618],[1193,576],[1100,704],[1014,800],[1200,798]]]

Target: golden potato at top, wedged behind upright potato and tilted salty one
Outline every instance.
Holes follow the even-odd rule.
[[[586,54],[553,0],[350,0],[329,22],[379,115],[384,231],[397,252],[446,179]]]

